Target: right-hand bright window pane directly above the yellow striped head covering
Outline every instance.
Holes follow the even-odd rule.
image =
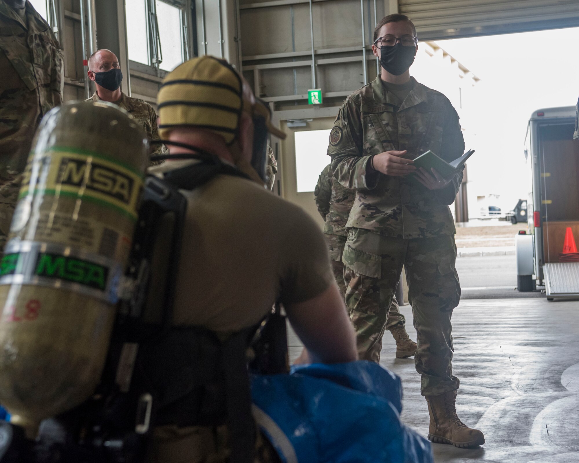
[[[173,71],[183,62],[183,41],[181,36],[181,10],[157,0],[157,23],[161,38],[163,63],[161,69]]]

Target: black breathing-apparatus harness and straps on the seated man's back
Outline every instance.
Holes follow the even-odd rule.
[[[203,328],[172,325],[186,214],[179,189],[194,190],[217,175],[247,178],[214,156],[177,157],[199,162],[168,171],[163,179],[146,177],[100,385],[82,405],[43,421],[34,441],[16,425],[0,422],[1,463],[140,462],[155,427],[223,424],[230,461],[254,462],[247,354],[254,372],[287,372],[285,318],[276,309],[226,341]]]

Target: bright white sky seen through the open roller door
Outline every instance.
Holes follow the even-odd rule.
[[[476,111],[470,111],[474,120],[468,121],[477,132],[477,146],[467,146],[477,150],[468,178],[483,194],[501,194],[497,205],[508,211],[527,197],[523,144],[531,113],[577,103],[579,28],[437,43],[481,78]]]

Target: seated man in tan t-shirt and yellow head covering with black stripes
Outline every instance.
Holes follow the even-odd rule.
[[[158,103],[162,139],[181,144],[168,143],[171,155],[204,150],[252,179],[220,175],[185,193],[174,323],[228,336],[254,325],[279,299],[306,346],[302,359],[355,360],[354,333],[322,234],[300,208],[267,192],[251,165],[258,136],[252,117],[260,103],[247,83],[224,61],[195,58],[167,76]],[[267,127],[284,136],[269,120]],[[163,177],[192,162],[170,160],[149,171]],[[156,461],[182,461],[184,449],[190,461],[226,455],[219,432],[211,427],[166,426],[154,439]]]

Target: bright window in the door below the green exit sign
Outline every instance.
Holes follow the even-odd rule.
[[[329,164],[328,139],[331,130],[295,133],[295,171],[298,193],[313,192],[321,171]]]

